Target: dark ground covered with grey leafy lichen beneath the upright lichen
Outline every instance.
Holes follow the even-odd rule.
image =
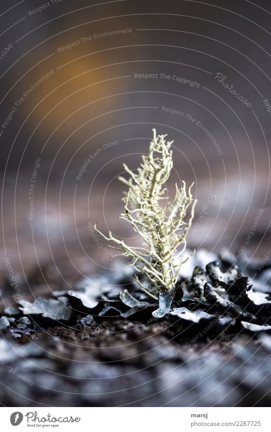
[[[46,298],[38,280],[35,297],[26,287],[2,307],[2,404],[269,406],[269,264],[212,258],[200,251],[182,268],[160,319],[125,268]]]

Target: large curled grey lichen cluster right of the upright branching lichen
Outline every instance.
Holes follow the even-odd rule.
[[[225,319],[229,320],[231,326],[240,324],[241,321],[256,325],[270,322],[269,295],[254,292],[249,277],[240,274],[235,265],[215,261],[206,266],[206,271],[196,267],[183,291],[183,301],[187,301],[188,305],[197,305],[205,311],[212,310],[219,317],[222,327]],[[264,327],[264,330],[268,328]]]

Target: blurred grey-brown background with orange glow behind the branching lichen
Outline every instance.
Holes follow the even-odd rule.
[[[95,222],[139,241],[117,176],[152,128],[174,140],[169,194],[195,182],[189,247],[264,255],[270,18],[267,0],[1,2],[1,248],[17,277],[110,268]]]

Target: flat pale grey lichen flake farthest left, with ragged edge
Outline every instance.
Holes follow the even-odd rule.
[[[21,300],[19,303],[22,306],[19,309],[25,315],[41,314],[44,318],[67,321],[72,314],[68,299],[65,297],[60,297],[58,300],[38,297],[33,303],[27,300]]]

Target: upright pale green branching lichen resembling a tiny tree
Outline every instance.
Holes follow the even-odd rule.
[[[165,141],[167,135],[156,135],[155,129],[153,132],[149,154],[142,156],[143,162],[137,168],[137,172],[131,171],[124,164],[130,178],[118,178],[128,186],[123,198],[125,213],[120,217],[131,223],[134,231],[143,240],[142,246],[128,246],[124,240],[113,237],[110,231],[106,237],[96,225],[95,229],[104,239],[116,245],[109,246],[121,252],[118,256],[132,258],[127,264],[145,275],[150,282],[148,286],[144,286],[135,276],[138,284],[148,295],[157,299],[161,292],[174,291],[179,269],[190,257],[188,255],[182,260],[181,255],[186,249],[186,236],[194,217],[196,200],[192,203],[193,184],[186,192],[186,184],[183,181],[180,189],[176,184],[174,198],[162,205],[164,200],[168,200],[165,182],[173,166],[170,149],[173,141]],[[191,204],[190,215],[185,221],[187,209]]]

